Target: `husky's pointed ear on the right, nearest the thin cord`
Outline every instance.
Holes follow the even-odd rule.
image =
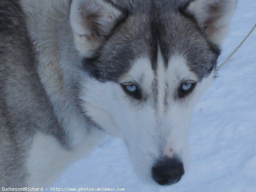
[[[210,40],[220,46],[235,9],[236,0],[192,0],[186,12],[195,18]]]

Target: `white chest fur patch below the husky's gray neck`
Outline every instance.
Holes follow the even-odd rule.
[[[61,175],[75,160],[86,157],[98,146],[105,134],[95,129],[87,133],[87,138],[81,145],[72,149],[65,149],[56,138],[38,133],[35,135],[32,147],[26,160],[29,177],[26,183],[31,187],[47,187]]]

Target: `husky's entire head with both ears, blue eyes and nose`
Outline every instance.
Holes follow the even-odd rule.
[[[139,175],[170,185],[187,168],[192,109],[214,79],[236,0],[121,2],[72,1],[81,106],[124,139]]]

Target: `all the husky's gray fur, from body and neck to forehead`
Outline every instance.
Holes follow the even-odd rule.
[[[27,156],[38,133],[53,137],[68,152],[75,151],[83,140],[88,140],[85,147],[92,145],[90,137],[98,136],[97,131],[105,134],[79,105],[81,79],[90,76],[119,83],[141,56],[150,58],[156,72],[158,49],[166,68],[172,55],[185,55],[200,80],[215,68],[219,45],[208,37],[193,12],[188,12],[188,0],[106,1],[122,17],[113,29],[94,31],[100,46],[92,57],[80,55],[73,41],[71,0],[0,1],[1,187],[26,186]],[[97,22],[98,28],[92,26],[92,32],[99,31]],[[157,86],[155,79],[151,85],[155,109]],[[169,86],[166,83],[165,106]]]

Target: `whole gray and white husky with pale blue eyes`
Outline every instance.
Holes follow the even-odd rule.
[[[49,186],[107,134],[177,183],[236,0],[1,0],[0,186]],[[84,173],[86,175],[86,173]]]

